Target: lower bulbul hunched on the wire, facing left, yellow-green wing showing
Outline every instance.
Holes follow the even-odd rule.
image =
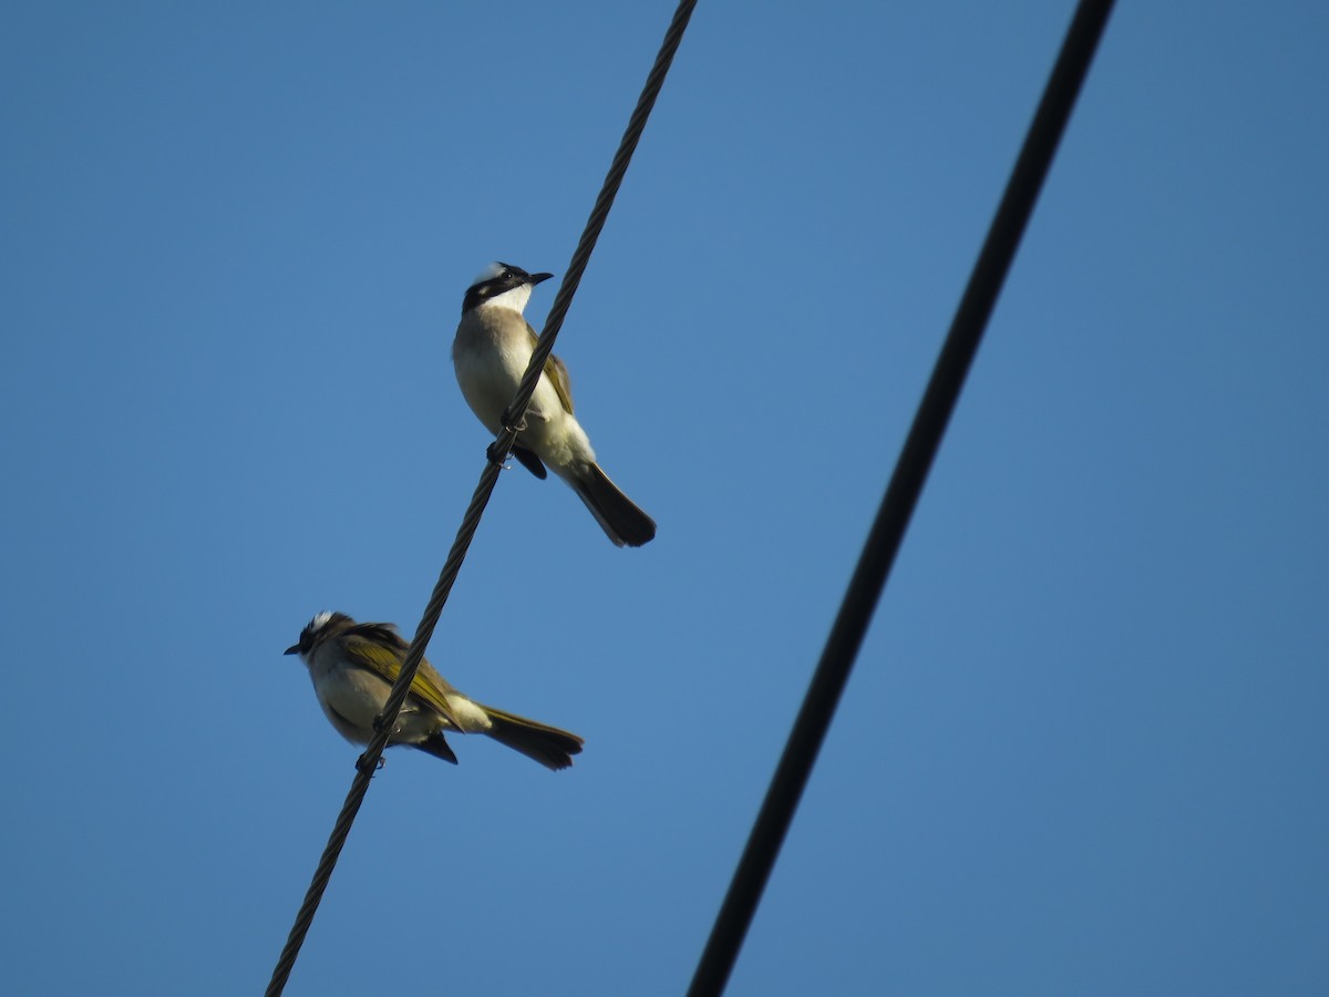
[[[319,613],[286,653],[299,654],[308,666],[319,706],[338,732],[352,744],[368,744],[373,718],[388,702],[408,647],[392,623],[358,623],[346,613]],[[409,744],[457,764],[444,731],[488,734],[556,770],[567,768],[582,747],[575,734],[477,703],[421,661],[388,744]]]

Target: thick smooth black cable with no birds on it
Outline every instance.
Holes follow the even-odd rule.
[[[1111,0],[1082,0],[1067,29],[688,997],[715,997],[728,982],[1111,9]]]

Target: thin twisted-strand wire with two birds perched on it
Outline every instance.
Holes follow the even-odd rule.
[[[591,209],[590,218],[586,222],[586,230],[582,233],[581,242],[577,243],[577,250],[573,253],[571,262],[567,265],[567,273],[563,275],[563,283],[558,288],[558,295],[554,298],[554,303],[550,307],[549,318],[545,320],[545,330],[540,336],[540,342],[536,346],[533,356],[530,358],[530,364],[521,380],[521,386],[517,388],[517,395],[508,408],[508,417],[504,420],[504,429],[494,439],[493,444],[490,444],[489,463],[485,464],[485,469],[480,475],[480,484],[476,485],[476,492],[470,498],[470,505],[466,508],[466,513],[461,520],[461,526],[457,529],[457,537],[452,544],[452,550],[448,553],[448,560],[444,562],[443,570],[439,574],[439,581],[433,588],[433,594],[429,597],[429,602],[425,606],[424,617],[420,619],[420,626],[416,627],[415,637],[411,641],[411,647],[407,650],[407,657],[401,662],[401,674],[397,675],[397,681],[392,686],[392,693],[388,695],[388,702],[383,707],[383,714],[376,720],[376,732],[373,738],[369,740],[368,747],[365,747],[364,754],[360,755],[359,760],[355,763],[355,779],[351,782],[351,790],[347,792],[346,803],[342,804],[342,812],[338,815],[336,823],[332,826],[332,833],[328,837],[327,847],[323,849],[323,857],[319,860],[318,868],[314,872],[314,880],[310,883],[310,888],[304,895],[304,903],[300,905],[300,909],[295,916],[295,924],[291,927],[291,933],[286,940],[286,946],[282,949],[276,966],[272,969],[272,978],[266,990],[267,997],[276,997],[280,994],[286,988],[286,981],[291,976],[291,969],[295,966],[295,960],[300,953],[300,946],[304,944],[304,936],[308,933],[310,925],[314,923],[314,915],[323,899],[323,892],[327,889],[328,880],[332,877],[332,869],[336,867],[338,856],[342,853],[347,835],[351,833],[351,824],[355,822],[355,815],[360,811],[360,804],[364,802],[364,795],[369,788],[369,780],[373,778],[373,771],[381,760],[383,750],[388,743],[388,735],[396,726],[397,714],[401,711],[401,706],[407,699],[407,691],[411,689],[411,682],[415,679],[416,670],[420,667],[420,661],[424,658],[424,650],[429,645],[429,638],[433,635],[433,629],[439,623],[439,617],[443,615],[443,606],[448,601],[448,594],[452,592],[452,584],[457,578],[457,572],[461,570],[461,562],[465,560],[466,549],[470,546],[470,540],[476,533],[476,528],[480,525],[480,517],[484,514],[485,505],[489,502],[489,496],[493,493],[494,484],[498,481],[498,472],[502,469],[502,461],[512,451],[513,441],[517,437],[517,429],[513,427],[520,428],[526,407],[530,404],[530,396],[536,391],[536,383],[540,379],[540,372],[544,370],[545,360],[549,358],[549,354],[554,347],[554,339],[558,336],[558,330],[562,327],[567,308],[571,306],[573,295],[577,292],[577,286],[581,283],[582,274],[586,270],[586,263],[590,261],[591,251],[595,249],[599,233],[605,227],[605,219],[609,217],[609,209],[613,206],[614,197],[618,194],[618,187],[622,185],[623,175],[627,173],[627,164],[631,161],[633,152],[637,149],[642,132],[646,129],[646,120],[650,117],[651,108],[655,106],[655,98],[659,96],[661,88],[664,85],[664,76],[668,73],[670,64],[674,61],[674,55],[678,52],[679,43],[683,40],[683,32],[687,28],[687,23],[692,16],[692,8],[695,7],[696,0],[680,0],[678,9],[674,12],[674,20],[670,23],[670,27],[664,33],[664,40],[661,43],[661,51],[655,56],[655,64],[651,66],[651,72],[646,77],[646,85],[642,88],[642,96],[637,101],[637,108],[633,110],[631,118],[629,118],[627,129],[623,132],[623,138],[619,142],[618,152],[610,164],[609,174],[605,177],[605,185],[599,191],[599,197],[595,198],[595,206]]]

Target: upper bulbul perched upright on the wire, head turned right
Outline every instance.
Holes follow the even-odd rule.
[[[452,364],[461,393],[485,428],[497,435],[536,348],[536,330],[522,315],[532,288],[553,274],[528,274],[493,263],[466,291],[452,343]],[[655,537],[655,520],[618,491],[595,463],[586,431],[573,416],[567,368],[550,355],[530,396],[526,428],[513,456],[536,477],[548,465],[571,485],[591,516],[618,546],[641,546]]]

